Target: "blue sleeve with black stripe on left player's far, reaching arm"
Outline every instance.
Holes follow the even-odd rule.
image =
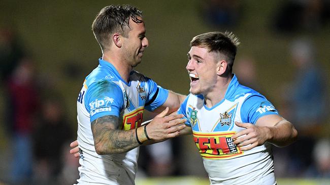
[[[146,77],[146,79],[149,88],[147,90],[145,109],[148,111],[154,111],[165,103],[169,96],[169,90],[157,85],[157,83],[150,78]]]

